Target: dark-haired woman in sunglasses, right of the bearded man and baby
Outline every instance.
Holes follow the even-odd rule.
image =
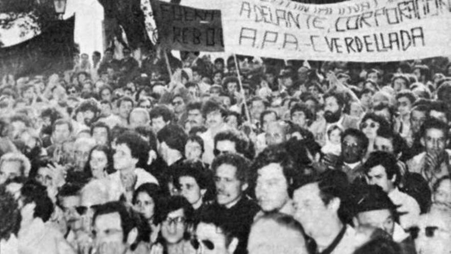
[[[377,136],[377,131],[381,129],[386,130],[384,132],[390,131],[389,123],[382,117],[375,113],[366,113],[362,121],[360,122],[360,130],[365,133],[366,138],[368,138],[368,149],[366,151],[366,157],[374,151],[374,141]]]

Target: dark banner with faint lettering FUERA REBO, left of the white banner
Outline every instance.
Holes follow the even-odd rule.
[[[151,1],[158,41],[173,50],[224,51],[221,11]]]

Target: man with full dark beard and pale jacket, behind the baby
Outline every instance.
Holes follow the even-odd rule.
[[[358,118],[343,113],[346,106],[343,94],[338,92],[326,93],[324,99],[324,118],[320,118],[310,126],[310,131],[314,134],[315,140],[323,146],[327,139],[327,130],[338,125],[341,129],[358,129]]]

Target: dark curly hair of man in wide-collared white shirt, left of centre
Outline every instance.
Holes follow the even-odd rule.
[[[141,138],[136,132],[126,131],[119,135],[116,144],[126,144],[131,151],[133,158],[138,159],[136,167],[143,167],[149,159],[149,144]]]

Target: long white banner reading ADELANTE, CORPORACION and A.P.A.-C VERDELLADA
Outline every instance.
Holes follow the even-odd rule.
[[[451,55],[451,0],[222,2],[228,52],[358,62]]]

